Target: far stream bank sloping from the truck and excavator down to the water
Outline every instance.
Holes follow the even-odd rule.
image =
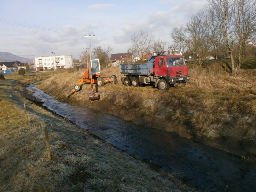
[[[117,70],[105,71],[103,76],[118,74]],[[192,73],[187,86],[171,87],[168,91],[152,86],[126,87],[118,76],[117,84],[98,88],[100,100],[95,101],[88,99],[90,86],[87,84],[80,92],[69,98],[65,96],[82,72],[53,76],[38,87],[70,105],[97,109],[138,125],[176,132],[191,142],[234,154],[255,155],[255,71],[243,71],[237,76],[210,76],[204,71]],[[206,76],[207,79],[210,76],[211,81],[206,81]]]

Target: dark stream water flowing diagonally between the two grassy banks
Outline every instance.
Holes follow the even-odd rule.
[[[138,159],[162,167],[205,191],[256,191],[256,165],[177,135],[59,102],[31,84],[44,106]],[[88,99],[88,98],[84,98]]]

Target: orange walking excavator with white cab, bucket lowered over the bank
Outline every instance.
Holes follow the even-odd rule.
[[[107,82],[111,84],[117,83],[117,77],[116,75],[111,75],[108,77],[101,77],[100,76],[100,61],[99,59],[90,59],[90,65],[88,65],[88,68],[85,70],[83,74],[84,78],[79,79],[79,81],[74,84],[71,93],[66,94],[66,96],[72,95],[76,91],[81,90],[81,86],[84,83],[90,83],[91,84],[91,93],[89,93],[89,99],[90,100],[97,100],[99,99],[99,94],[94,91],[93,84],[97,83],[97,85],[104,86]]]

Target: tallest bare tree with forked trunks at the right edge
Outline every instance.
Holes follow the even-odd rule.
[[[206,12],[214,18],[212,27],[225,37],[224,43],[231,58],[231,71],[235,73],[243,63],[246,41],[255,37],[256,2],[254,0],[209,0]],[[235,65],[234,47],[237,47]]]

